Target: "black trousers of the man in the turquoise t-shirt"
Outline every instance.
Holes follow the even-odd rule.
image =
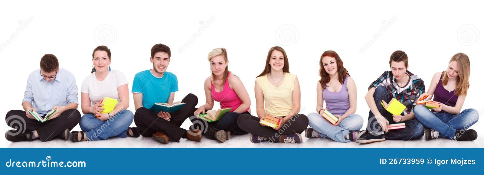
[[[198,103],[197,96],[188,94],[181,100],[185,105],[181,109],[173,114],[170,114],[170,121],[164,118],[158,117],[157,114],[151,112],[147,108],[140,107],[135,112],[135,124],[138,131],[144,137],[151,137],[156,131],[161,131],[170,140],[178,142],[181,136],[185,133],[185,129],[180,128],[183,121],[186,118],[193,116],[195,112],[195,106]]]

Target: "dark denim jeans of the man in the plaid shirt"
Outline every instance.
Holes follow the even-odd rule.
[[[375,103],[378,108],[378,112],[385,117],[390,124],[396,123],[393,121],[392,113],[388,112],[383,106],[380,104],[381,100],[385,102],[390,102],[392,100],[392,96],[386,87],[378,86],[375,89],[375,93],[373,94],[373,98],[375,99]],[[370,114],[368,115],[368,127],[366,131],[370,132],[379,132],[381,133],[381,127],[377,123],[373,113],[370,110]],[[388,140],[410,140],[410,139],[418,139],[423,136],[423,125],[417,119],[411,119],[404,121],[405,128],[397,129],[397,130],[390,130],[385,133],[385,138]]]

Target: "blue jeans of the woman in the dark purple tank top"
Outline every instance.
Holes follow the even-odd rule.
[[[432,113],[422,104],[413,109],[417,118],[426,127],[439,131],[442,137],[454,139],[456,130],[469,129],[479,120],[479,112],[475,109],[466,109],[453,115],[447,112]]]

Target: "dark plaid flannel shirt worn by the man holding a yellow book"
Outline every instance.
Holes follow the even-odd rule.
[[[383,86],[388,89],[393,98],[401,102],[403,105],[407,106],[407,109],[403,111],[403,115],[408,115],[413,112],[413,107],[417,104],[417,100],[420,95],[425,92],[425,85],[423,80],[407,71],[410,75],[410,87],[404,89],[402,92],[397,93],[396,87],[398,87],[392,71],[385,71],[383,74],[375,80],[368,89],[372,87]],[[378,104],[378,102],[377,102]]]

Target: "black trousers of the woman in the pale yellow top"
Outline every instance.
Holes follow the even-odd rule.
[[[281,135],[302,133],[306,130],[309,120],[303,114],[294,115],[279,130],[259,124],[259,117],[243,114],[238,119],[239,127],[254,135],[268,138],[272,142],[278,142]]]

